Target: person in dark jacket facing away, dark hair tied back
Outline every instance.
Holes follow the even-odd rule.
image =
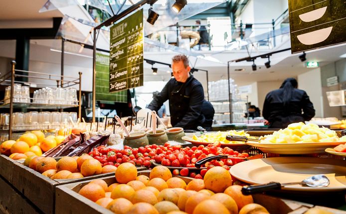
[[[309,121],[315,116],[309,96],[297,88],[297,80],[288,78],[280,89],[267,94],[263,117],[268,120],[269,128],[286,128],[291,123]]]

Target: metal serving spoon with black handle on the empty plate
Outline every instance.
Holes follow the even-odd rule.
[[[308,187],[322,188],[322,187],[328,187],[330,184],[330,181],[325,175],[314,175],[304,179],[301,182],[293,182],[293,183],[285,183],[285,184],[271,182],[268,184],[245,186],[241,189],[241,192],[244,195],[251,195],[254,193],[261,193],[266,190],[281,189],[281,187],[288,186],[288,185],[296,185],[296,184],[300,184],[302,186],[308,186]]]

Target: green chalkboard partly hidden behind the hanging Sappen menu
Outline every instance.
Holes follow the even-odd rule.
[[[96,100],[102,103],[127,103],[127,91],[109,93],[109,56],[96,53]]]

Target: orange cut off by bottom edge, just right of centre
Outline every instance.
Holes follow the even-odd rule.
[[[199,203],[193,210],[193,214],[230,214],[227,208],[218,201],[205,200]]]

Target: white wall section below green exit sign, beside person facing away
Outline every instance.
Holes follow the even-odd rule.
[[[321,69],[316,68],[301,75],[298,75],[298,88],[306,91],[310,101],[314,104],[316,110],[315,117],[322,117],[322,82]]]

